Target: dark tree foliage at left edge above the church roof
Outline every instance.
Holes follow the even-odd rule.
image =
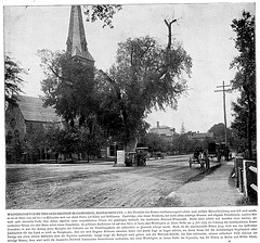
[[[24,82],[22,74],[26,74],[25,69],[9,55],[4,55],[4,97],[8,104],[16,104],[16,95],[22,93],[22,85]]]

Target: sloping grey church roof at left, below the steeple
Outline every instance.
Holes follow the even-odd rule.
[[[61,117],[57,116],[52,107],[43,107],[43,102],[40,98],[18,95],[17,104],[25,120],[40,123],[58,123]]]

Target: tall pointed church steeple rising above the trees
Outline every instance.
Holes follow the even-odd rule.
[[[91,66],[94,65],[94,59],[88,51],[80,5],[72,5],[67,53],[83,59]]]

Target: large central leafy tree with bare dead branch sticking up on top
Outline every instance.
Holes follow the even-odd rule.
[[[143,118],[152,108],[177,108],[178,98],[187,88],[182,74],[191,74],[192,60],[181,46],[171,43],[174,21],[166,21],[166,48],[148,36],[129,38],[118,44],[116,63],[109,72],[101,71],[98,76],[103,84],[102,97],[107,98],[101,107],[117,120],[127,151],[134,150],[138,133],[145,126]]]

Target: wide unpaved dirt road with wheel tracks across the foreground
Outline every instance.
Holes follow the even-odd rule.
[[[158,206],[198,174],[198,165],[188,168],[188,156],[148,161],[145,167],[113,167],[112,162],[6,165],[6,208]]]

